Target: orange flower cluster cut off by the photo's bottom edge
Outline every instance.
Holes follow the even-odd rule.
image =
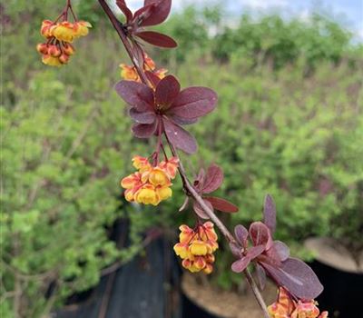
[[[317,304],[315,301],[297,303],[280,287],[277,302],[272,303],[268,310],[271,318],[328,318],[328,312],[320,313]]]

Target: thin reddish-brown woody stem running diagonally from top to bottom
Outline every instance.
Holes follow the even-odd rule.
[[[114,29],[116,30],[117,34],[120,36],[123,45],[126,49],[126,52],[128,53],[128,55],[130,56],[131,60],[132,60],[132,64],[135,66],[135,69],[138,73],[138,75],[140,76],[140,78],[142,79],[142,82],[144,84],[149,85],[149,81],[146,77],[146,75],[144,74],[142,67],[140,67],[136,57],[133,55],[132,52],[132,47],[130,45],[130,42],[127,40],[127,35],[123,29],[123,25],[117,20],[117,18],[115,17],[115,15],[113,15],[113,11],[110,9],[110,7],[106,4],[106,2],[104,0],[98,0],[100,5],[103,7],[103,11],[105,12],[106,15],[108,15],[111,23],[113,24]],[[227,229],[227,227],[221,222],[220,218],[214,214],[214,212],[211,210],[211,208],[205,204],[204,200],[201,198],[201,195],[198,194],[198,192],[194,189],[194,187],[191,185],[191,182],[189,181],[187,174],[185,173],[185,169],[182,165],[182,161],[180,160],[179,154],[177,153],[174,145],[169,141],[167,135],[165,134],[165,138],[169,144],[169,147],[172,151],[172,155],[177,157],[179,159],[179,173],[181,174],[182,177],[182,184],[183,184],[183,188],[186,191],[187,194],[191,195],[193,197],[193,199],[201,206],[201,208],[204,210],[204,212],[210,217],[211,221],[214,222],[214,224],[216,224],[216,226],[220,229],[221,234],[224,235],[224,237],[227,239],[227,241],[229,243],[236,243],[236,240],[234,239],[233,235],[231,234],[231,232]],[[163,148],[163,147],[162,147]],[[260,308],[264,314],[264,318],[270,318],[270,315],[268,313],[267,310],[267,305],[263,300],[263,297],[260,293],[260,290],[256,284],[256,282],[254,281],[252,275],[250,274],[250,271],[246,268],[246,270],[243,272],[244,275],[246,276],[247,282],[250,284],[250,288],[252,290],[252,292],[254,293],[257,302],[260,304]]]

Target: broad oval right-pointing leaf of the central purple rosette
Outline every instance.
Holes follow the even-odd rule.
[[[182,118],[198,118],[211,113],[217,104],[217,94],[207,87],[188,87],[172,104],[170,114]]]

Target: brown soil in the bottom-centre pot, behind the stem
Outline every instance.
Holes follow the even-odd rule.
[[[262,317],[260,306],[250,290],[245,293],[223,291],[208,281],[198,283],[195,274],[184,273],[182,291],[192,302],[221,318]],[[275,302],[276,286],[268,282],[262,295],[267,304]]]

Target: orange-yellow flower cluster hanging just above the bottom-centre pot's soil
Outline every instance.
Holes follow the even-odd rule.
[[[213,271],[214,255],[218,248],[218,236],[210,221],[198,224],[195,229],[181,225],[179,243],[174,245],[174,251],[182,258],[182,267],[191,273],[211,273]]]

